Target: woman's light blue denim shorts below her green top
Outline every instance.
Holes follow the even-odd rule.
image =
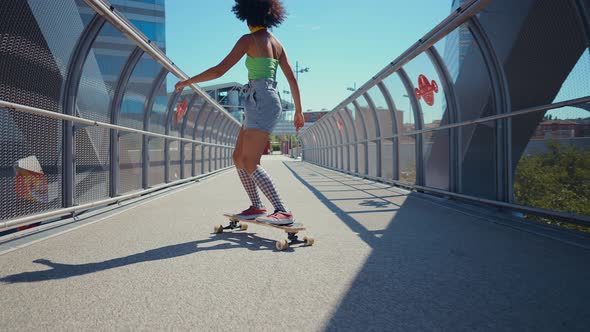
[[[251,80],[244,86],[246,96],[244,129],[272,133],[283,112],[277,93],[277,82],[271,79]]]

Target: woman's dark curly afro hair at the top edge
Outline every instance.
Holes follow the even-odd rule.
[[[236,0],[232,12],[250,26],[277,27],[287,13],[281,0]]]

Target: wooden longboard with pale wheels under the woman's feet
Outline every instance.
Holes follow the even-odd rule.
[[[303,224],[293,223],[290,225],[273,225],[273,224],[269,224],[269,223],[261,222],[261,221],[257,221],[257,220],[236,218],[233,215],[227,214],[227,213],[223,214],[223,216],[229,218],[229,225],[228,226],[223,226],[223,225],[215,226],[215,230],[214,230],[215,233],[223,233],[224,230],[234,230],[234,229],[239,229],[241,231],[245,231],[248,229],[247,224],[250,223],[250,224],[257,224],[257,225],[271,227],[271,228],[278,228],[278,229],[282,229],[283,231],[285,231],[288,235],[288,240],[277,241],[276,247],[277,247],[277,250],[279,250],[279,251],[288,249],[289,246],[293,245],[293,244],[303,243],[306,246],[311,246],[315,242],[314,238],[309,237],[309,236],[304,236],[303,241],[299,240],[299,238],[297,237],[297,233],[305,230],[305,227],[303,227]]]

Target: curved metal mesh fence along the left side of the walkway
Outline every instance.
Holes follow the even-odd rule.
[[[240,123],[101,0],[0,3],[0,231],[230,167]],[[160,45],[161,46],[161,45]]]

